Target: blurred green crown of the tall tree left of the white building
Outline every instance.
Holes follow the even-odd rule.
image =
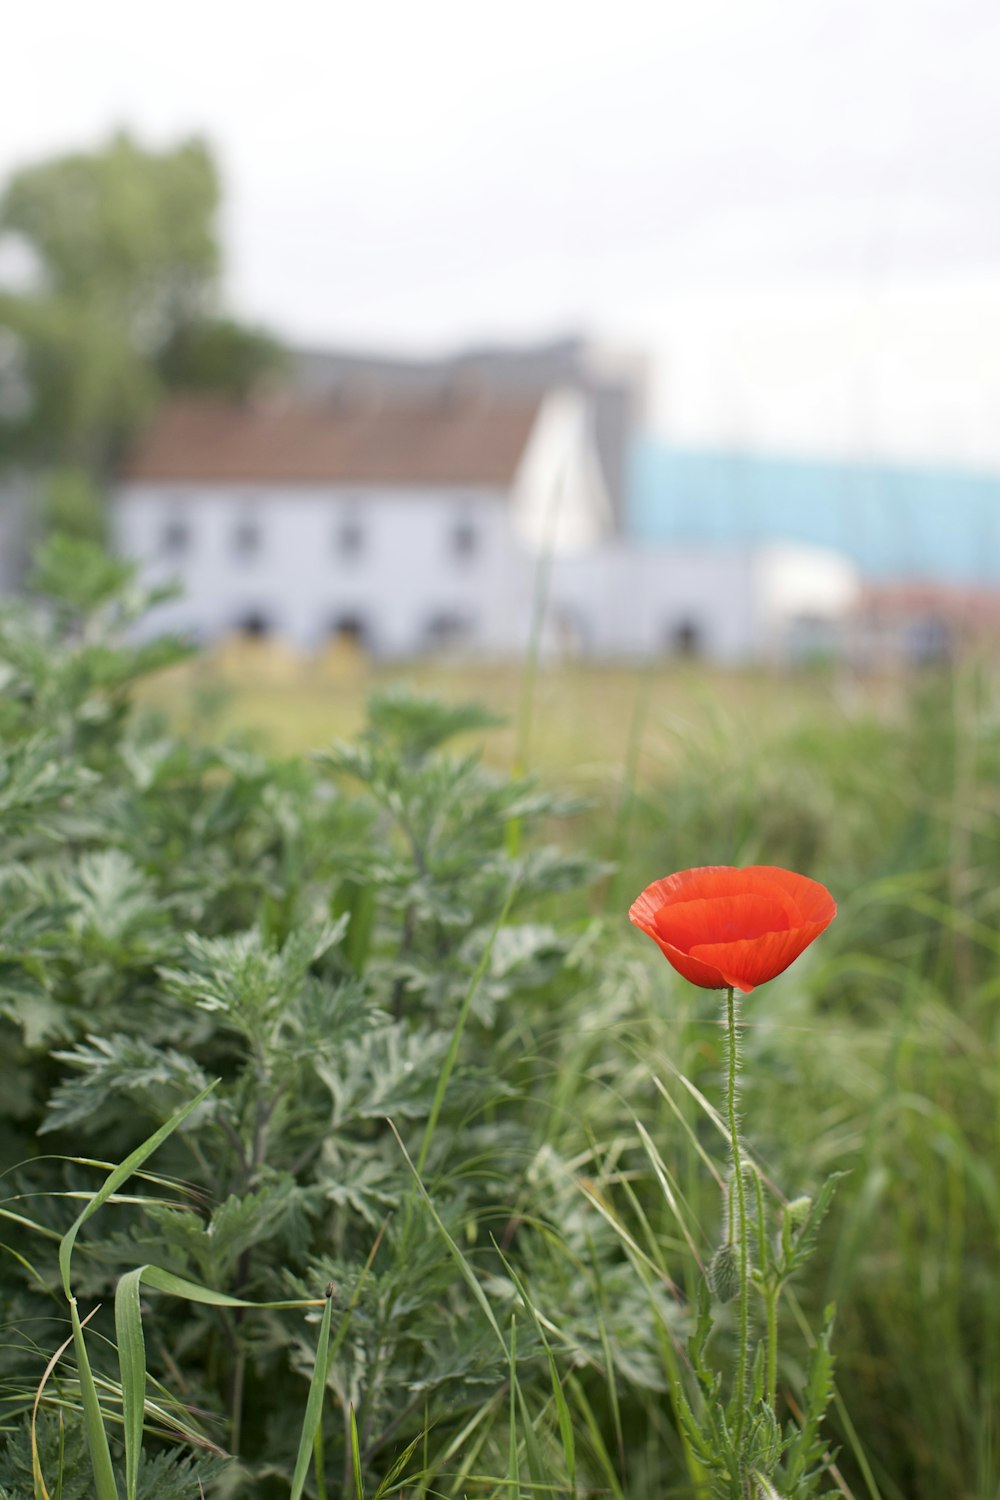
[[[103,480],[165,388],[243,392],[274,366],[271,339],[217,314],[219,198],[199,140],[120,134],[15,172],[0,237],[33,273],[0,285],[0,460]]]

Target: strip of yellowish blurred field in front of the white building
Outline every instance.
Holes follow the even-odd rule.
[[[351,738],[369,696],[403,682],[447,702],[477,700],[502,724],[483,740],[487,760],[522,764],[585,783],[639,782],[676,770],[693,747],[741,736],[762,744],[805,724],[898,711],[898,681],[825,670],[735,670],[661,660],[639,664],[541,664],[427,660],[373,664],[351,651],[297,657],[270,644],[232,640],[151,680],[144,700],[205,738],[249,735],[276,754]]]

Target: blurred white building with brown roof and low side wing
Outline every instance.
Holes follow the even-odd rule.
[[[349,636],[379,657],[519,656],[543,588],[547,650],[738,662],[784,650],[799,616],[838,616],[855,586],[823,554],[796,590],[801,556],[622,540],[586,394],[568,387],[177,400],[135,452],[114,525],[150,582],[181,585],[154,628],[301,650]]]

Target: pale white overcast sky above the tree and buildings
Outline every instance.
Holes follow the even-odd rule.
[[[690,442],[1000,466],[997,0],[36,0],[0,174],[201,132],[234,312],[585,332]]]

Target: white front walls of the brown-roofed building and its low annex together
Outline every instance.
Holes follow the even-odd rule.
[[[261,544],[240,555],[238,528],[249,522]],[[186,526],[187,544],[165,555],[171,525]],[[814,614],[822,592],[816,568],[802,579],[789,573],[787,558],[777,568],[774,556],[750,550],[606,542],[544,561],[517,542],[511,502],[499,490],[145,484],[120,492],[115,526],[120,550],[145,561],[148,580],[178,578],[184,588],[150,628],[205,640],[259,616],[312,650],[337,622],[354,620],[373,654],[408,657],[447,644],[432,638],[432,622],[451,616],[457,648],[519,657],[541,572],[547,652],[642,657],[687,644],[711,660],[745,662],[783,650],[789,621]],[[342,549],[345,526],[358,528],[355,554]],[[462,526],[474,537],[465,556],[456,552]],[[819,561],[822,582],[840,586],[841,560],[823,554]],[[825,618],[838,615],[832,606],[841,594],[823,594]]]

